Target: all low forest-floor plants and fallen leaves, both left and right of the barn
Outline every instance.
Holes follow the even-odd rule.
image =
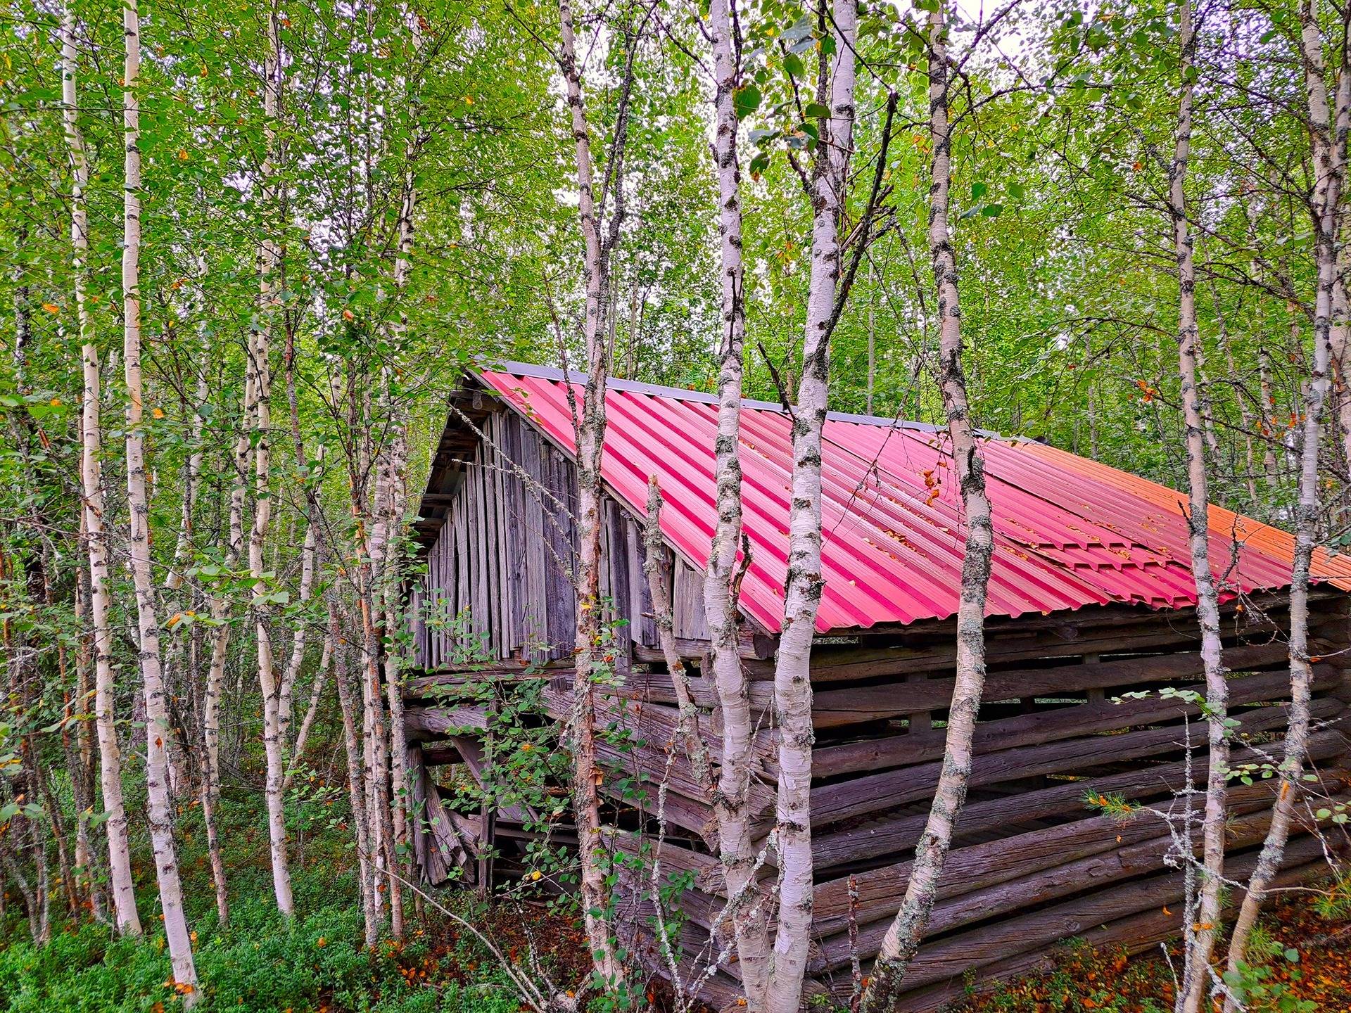
[[[222,817],[239,827],[227,850],[235,902],[230,925],[216,923],[211,867],[195,806],[181,814],[184,875],[195,955],[207,987],[203,1010],[238,1013],[517,1013],[524,1009],[488,952],[453,918],[427,906],[405,943],[363,948],[353,854],[340,793],[323,781],[296,806],[296,906],[288,927],[272,901],[261,802],[226,798]],[[147,843],[142,843],[149,850]],[[303,859],[300,858],[303,855]],[[59,889],[59,885],[54,885]],[[154,883],[138,901],[154,908]],[[534,945],[561,981],[585,967],[582,929],[546,905],[482,904],[471,890],[436,893],[436,904],[488,932],[516,962]],[[521,914],[526,914],[526,918]],[[542,951],[542,952],[540,952]],[[1351,902],[1292,894],[1265,917],[1248,985],[1250,1013],[1323,1013],[1351,1009]],[[1173,948],[1174,966],[1178,950]],[[665,989],[646,995],[665,1010]],[[1165,1013],[1173,1008],[1169,962],[1151,952],[1128,959],[1116,950],[1073,941],[1055,968],[973,995],[952,1013]],[[173,1013],[181,1009],[162,932],[119,939],[96,923],[54,927],[51,944],[34,947],[22,914],[9,906],[0,924],[0,1013]],[[824,1008],[821,1008],[824,1009]],[[838,1010],[836,1013],[844,1013]]]

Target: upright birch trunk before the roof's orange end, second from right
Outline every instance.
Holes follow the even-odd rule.
[[[1202,821],[1201,897],[1196,912],[1183,916],[1186,966],[1177,1009],[1200,1013],[1210,971],[1210,951],[1220,921],[1224,885],[1224,824],[1227,817],[1225,779],[1229,770],[1229,740],[1225,719],[1229,683],[1220,656],[1220,602],[1210,573],[1209,479],[1206,474],[1206,425],[1209,411],[1198,380],[1200,331],[1196,319],[1196,265],[1186,208],[1186,172],[1192,154],[1193,58],[1196,30],[1192,0],[1182,0],[1178,26],[1181,99],[1177,139],[1169,180],[1169,215],[1173,219],[1173,250],[1178,267],[1178,377],[1183,423],[1186,425],[1186,473],[1190,498],[1192,577],[1196,581],[1196,612],[1201,625],[1201,663],[1205,667],[1206,735],[1209,773]],[[1213,446],[1212,446],[1213,451]],[[1188,860],[1192,860],[1190,856]],[[1194,916],[1194,917],[1193,917]]]

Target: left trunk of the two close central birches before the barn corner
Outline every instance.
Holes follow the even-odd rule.
[[[736,108],[740,81],[735,0],[712,0],[715,135],[719,249],[721,258],[721,335],[717,369],[717,524],[704,574],[704,612],[709,629],[709,662],[723,715],[723,763],[715,814],[742,987],[750,1013],[765,1009],[769,987],[766,898],[755,882],[757,854],[751,837],[750,793],[755,725],[750,689],[742,670],[736,608],[736,547],[742,540],[742,370],[746,344],[744,267],[742,262],[740,163],[736,153]],[[651,555],[651,550],[648,550]]]

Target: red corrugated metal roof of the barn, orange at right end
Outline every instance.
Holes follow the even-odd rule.
[[[516,411],[566,450],[576,446],[563,374],[505,363],[480,373]],[[574,390],[581,398],[581,386]],[[662,534],[692,563],[713,534],[711,394],[612,381],[607,393],[604,479],[646,513],[657,475]],[[947,435],[929,425],[832,412],[823,457],[820,632],[944,619],[957,612],[965,524]],[[1196,604],[1185,496],[1040,443],[982,438],[994,516],[992,616],[1108,602]],[[769,631],[784,612],[790,419],[781,405],[746,401],[742,506],[751,565],[742,608]],[[1210,511],[1210,563],[1243,592],[1290,582],[1293,538],[1231,511]],[[1315,573],[1351,589],[1351,562],[1319,552]]]

